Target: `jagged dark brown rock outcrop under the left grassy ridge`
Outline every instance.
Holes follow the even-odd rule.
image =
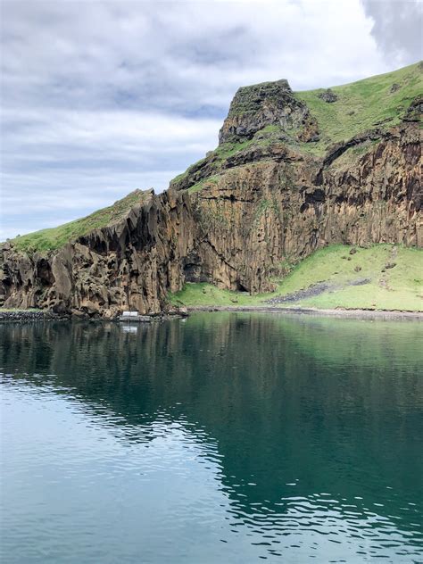
[[[129,211],[112,227],[47,255],[4,245],[2,285],[9,307],[100,313],[158,312],[181,284],[195,226],[189,195],[168,191]]]

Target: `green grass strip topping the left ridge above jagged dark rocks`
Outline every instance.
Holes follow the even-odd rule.
[[[12,239],[12,243],[15,249],[26,253],[52,251],[66,245],[69,241],[87,235],[93,229],[112,225],[124,217],[131,207],[141,203],[144,198],[145,193],[135,190],[111,206],[97,210],[85,218],[64,223],[57,228],[42,229],[28,235],[18,236]]]

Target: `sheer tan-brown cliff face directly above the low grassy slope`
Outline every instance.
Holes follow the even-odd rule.
[[[421,245],[419,129],[371,137],[323,162],[273,145],[206,180],[191,196],[201,236],[185,278],[259,293],[319,246]]]

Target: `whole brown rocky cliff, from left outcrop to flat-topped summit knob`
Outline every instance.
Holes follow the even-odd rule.
[[[167,192],[49,253],[3,245],[1,300],[104,317],[151,313],[185,282],[269,291],[323,245],[421,246],[419,104],[394,127],[317,156],[319,123],[286,81],[241,88],[220,147]]]

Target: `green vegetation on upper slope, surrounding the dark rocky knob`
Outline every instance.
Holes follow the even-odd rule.
[[[237,104],[231,105],[227,122],[233,129],[233,120],[242,119],[245,116],[254,116],[253,101],[257,101],[257,89],[266,92],[270,89],[270,97],[274,95],[273,85],[277,83],[263,83],[253,87],[243,87],[236,93],[240,98]],[[328,97],[327,94],[331,93]],[[362,79],[351,84],[339,87],[331,87],[328,90],[317,88],[303,92],[292,92],[294,101],[303,103],[310,111],[311,119],[297,120],[286,127],[286,123],[278,120],[275,112],[271,123],[264,125],[256,132],[246,131],[238,128],[240,134],[232,137],[221,137],[220,145],[207,156],[191,165],[185,172],[173,178],[171,187],[177,189],[190,188],[198,190],[204,185],[204,181],[221,170],[236,166],[237,161],[243,161],[243,154],[252,152],[254,149],[260,151],[263,147],[280,144],[292,145],[295,149],[324,157],[338,144],[346,143],[359,134],[373,130],[373,142],[380,139],[378,133],[383,132],[406,117],[413,100],[423,94],[423,62],[411,64],[398,71]],[[266,97],[268,94],[261,94]],[[243,97],[246,100],[243,100]],[[234,100],[236,99],[234,98]],[[247,112],[240,113],[240,107],[246,108]],[[268,112],[269,108],[266,108]],[[257,113],[257,111],[256,111]],[[267,114],[267,118],[269,116]],[[225,129],[222,128],[222,130]],[[227,128],[228,129],[228,128]],[[311,133],[307,135],[307,130]],[[304,135],[305,131],[305,135]],[[230,140],[228,140],[230,138]],[[366,143],[364,137],[360,143],[352,144],[350,151],[357,153]],[[366,147],[362,148],[365,151]],[[237,157],[237,159],[236,159]]]

